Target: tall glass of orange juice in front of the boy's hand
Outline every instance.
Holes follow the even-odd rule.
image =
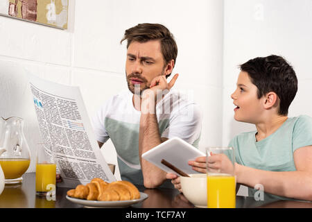
[[[207,147],[207,207],[235,208],[236,178],[232,147]]]

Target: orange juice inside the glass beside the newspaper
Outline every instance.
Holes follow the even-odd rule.
[[[56,164],[36,164],[36,191],[48,192],[51,187],[48,185],[55,185]]]

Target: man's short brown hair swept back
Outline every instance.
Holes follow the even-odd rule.
[[[177,44],[175,43],[173,34],[162,24],[138,24],[137,26],[129,28],[125,31],[125,35],[123,36],[121,43],[123,40],[127,40],[127,49],[131,42],[159,40],[162,56],[166,62],[164,66],[166,66],[171,60],[174,60],[175,62],[177,58]],[[170,75],[171,74],[168,76]]]

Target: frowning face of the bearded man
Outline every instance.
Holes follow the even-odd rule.
[[[135,87],[141,93],[150,87],[153,78],[165,75],[164,65],[159,40],[131,42],[127,51],[125,74],[132,94],[135,94]]]

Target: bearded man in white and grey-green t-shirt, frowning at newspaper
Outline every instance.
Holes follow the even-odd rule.
[[[167,83],[177,57],[177,45],[161,24],[138,24],[125,31],[125,74],[130,92],[107,101],[93,119],[101,147],[112,139],[122,180],[147,188],[173,187],[166,172],[141,159],[141,155],[171,137],[198,146],[201,114],[196,104],[170,89]]]

